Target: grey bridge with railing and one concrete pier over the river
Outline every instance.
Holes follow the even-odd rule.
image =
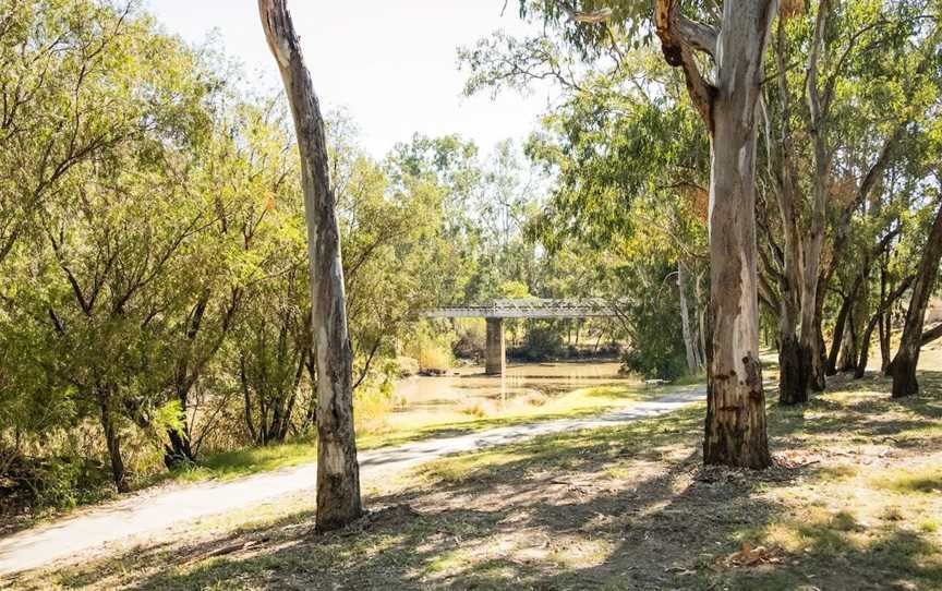
[[[484,348],[484,373],[504,375],[507,350],[504,342],[504,318],[590,318],[616,316],[615,309],[603,300],[495,300],[490,305],[458,305],[427,310],[428,318],[484,318],[487,340]]]

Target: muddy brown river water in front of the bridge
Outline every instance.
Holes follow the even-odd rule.
[[[637,384],[637,378],[619,375],[618,366],[616,361],[514,363],[504,377],[484,375],[483,366],[457,367],[444,376],[412,376],[396,383],[399,405],[390,423],[494,414],[579,388]]]

